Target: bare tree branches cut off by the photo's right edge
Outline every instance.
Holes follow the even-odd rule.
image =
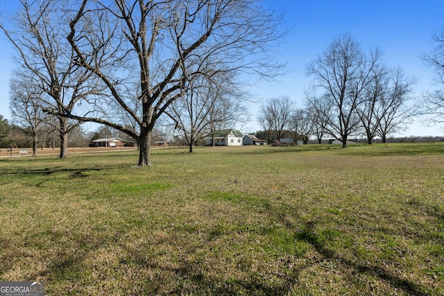
[[[444,122],[444,27],[432,36],[434,48],[422,54],[422,60],[434,71],[436,89],[425,95],[425,113],[432,117],[429,125]]]

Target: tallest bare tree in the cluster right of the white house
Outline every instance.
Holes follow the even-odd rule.
[[[341,35],[316,60],[307,66],[307,74],[314,77],[314,88],[323,91],[334,116],[325,116],[325,129],[347,147],[347,139],[359,128],[357,106],[363,100],[364,89],[371,81],[371,73],[379,60],[379,51],[366,55],[350,35]],[[311,98],[316,98],[313,96]],[[313,102],[311,105],[318,105]],[[318,110],[323,112],[323,110]]]

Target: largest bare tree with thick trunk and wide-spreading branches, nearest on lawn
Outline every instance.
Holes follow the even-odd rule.
[[[76,63],[108,87],[89,101],[89,114],[67,114],[126,132],[139,143],[138,166],[151,164],[155,123],[185,96],[194,76],[244,71],[273,77],[273,42],[282,17],[254,0],[83,0],[69,23]],[[98,60],[96,55],[104,53]],[[261,55],[257,55],[260,53]],[[126,89],[137,89],[140,112]],[[126,128],[98,106],[119,108],[136,123]]]

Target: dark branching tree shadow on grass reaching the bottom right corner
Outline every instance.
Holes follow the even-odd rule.
[[[282,225],[286,225],[288,229],[295,229],[295,225],[291,221],[285,218],[285,215],[280,215],[282,211],[275,209],[273,206],[268,204],[268,209],[270,214],[275,218],[275,220],[280,221]],[[296,209],[287,209],[296,213]],[[334,262],[343,266],[343,270],[350,277],[355,277],[355,275],[362,275],[366,278],[375,278],[378,281],[382,281],[388,286],[391,286],[393,290],[402,291],[406,295],[429,295],[427,294],[427,287],[416,284],[408,279],[403,279],[379,265],[368,263],[365,260],[353,260],[349,259],[347,256],[340,254],[332,250],[329,245],[329,238],[325,234],[320,234],[316,229],[316,222],[307,221],[305,224],[298,225],[297,231],[294,233],[294,239],[296,241],[304,241],[309,243],[309,245],[314,247],[314,250],[321,256],[321,261]],[[209,240],[217,241],[219,236],[227,236],[226,232],[221,232],[219,229],[209,229]],[[168,242],[164,242],[168,243]],[[172,242],[171,242],[172,243]],[[140,265],[140,268],[148,268],[153,270],[159,270],[161,275],[168,274],[172,279],[176,281],[181,281],[187,283],[187,286],[176,286],[173,294],[205,294],[205,295],[239,295],[239,293],[247,293],[248,295],[288,295],[291,293],[293,288],[297,288],[297,283],[299,280],[300,272],[309,268],[310,266],[319,263],[318,260],[310,261],[307,260],[305,265],[299,265],[298,268],[293,268],[290,274],[287,274],[285,278],[280,278],[280,281],[267,281],[260,275],[255,274],[255,272],[248,272],[246,277],[233,276],[227,278],[224,275],[214,275],[214,272],[209,272],[209,265],[205,265],[205,262],[199,261],[189,261],[189,258],[193,258],[192,254],[202,249],[203,245],[194,245],[189,254],[182,254],[183,260],[178,264],[171,266],[166,264],[161,264],[158,261],[147,259],[144,256],[144,252],[139,252],[138,250],[131,250],[128,252],[130,261],[135,261]],[[196,251],[197,250],[197,251]],[[203,266],[200,266],[202,263]],[[210,273],[210,275],[209,275]],[[359,276],[357,276],[359,277]],[[168,279],[163,279],[163,281],[168,281]],[[162,282],[162,281],[161,281]],[[167,284],[167,283],[165,283]],[[193,290],[187,290],[189,288]],[[153,286],[154,294],[162,294],[162,284],[154,283]]]

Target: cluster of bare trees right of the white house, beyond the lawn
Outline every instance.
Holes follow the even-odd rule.
[[[367,143],[388,137],[427,113],[413,96],[416,79],[400,67],[388,67],[382,51],[364,51],[350,35],[341,35],[318,58],[307,64],[313,78],[304,103],[296,107],[287,96],[271,98],[260,108],[259,123],[282,139],[295,132],[304,143],[316,137],[337,139],[347,147],[360,135]],[[268,142],[272,135],[266,134]]]

